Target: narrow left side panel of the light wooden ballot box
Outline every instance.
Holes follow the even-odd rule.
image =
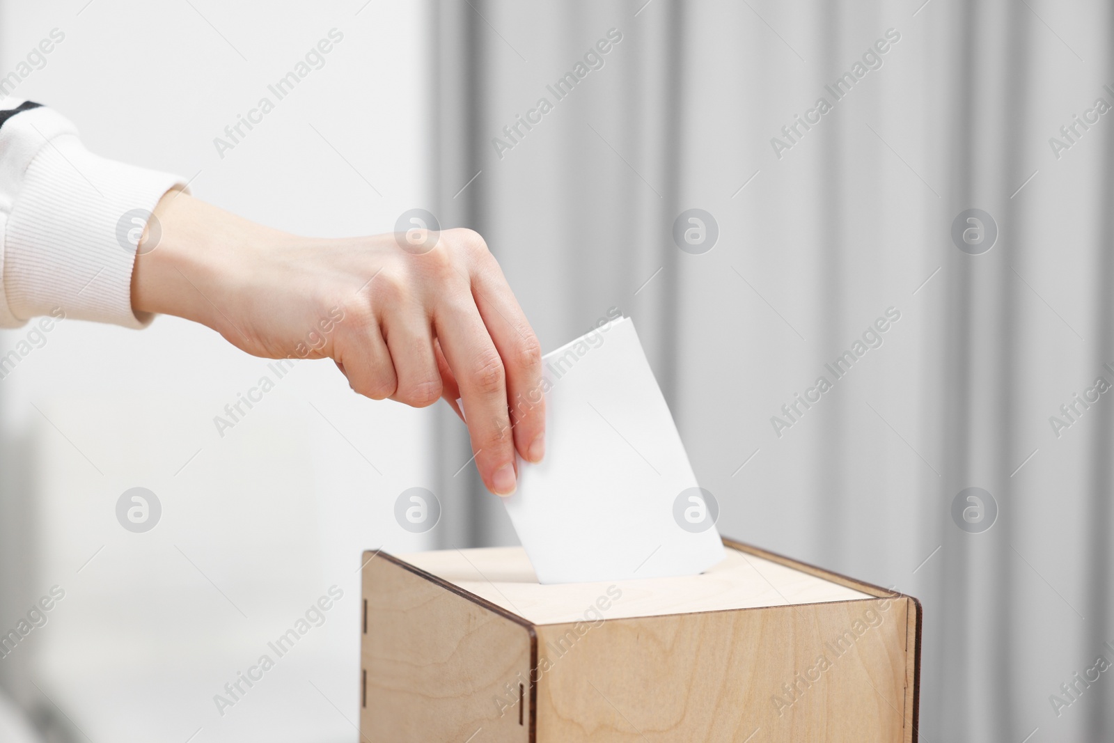
[[[364,560],[362,740],[527,743],[532,629],[387,555]]]

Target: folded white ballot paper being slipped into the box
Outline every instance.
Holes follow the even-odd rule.
[[[620,317],[543,359],[546,457],[518,461],[504,499],[538,580],[695,575],[723,559],[714,500],[696,483],[634,322]]]

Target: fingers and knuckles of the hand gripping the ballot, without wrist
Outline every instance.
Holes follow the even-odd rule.
[[[424,407],[443,395],[468,424],[485,486],[512,493],[516,452],[545,453],[545,402],[537,339],[502,272],[471,231],[442,233],[422,254],[384,254],[336,361],[368,397]]]

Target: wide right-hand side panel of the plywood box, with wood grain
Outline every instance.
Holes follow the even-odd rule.
[[[909,740],[909,606],[539,627],[538,743]]]

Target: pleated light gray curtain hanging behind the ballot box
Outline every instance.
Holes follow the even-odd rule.
[[[1114,739],[1114,681],[1075,681],[1114,662],[1114,395],[1087,392],[1114,382],[1114,115],[1073,118],[1114,104],[1114,10],[644,1],[434,4],[442,224],[487,237],[546,349],[634,317],[722,532],[924,602],[921,740]],[[954,237],[969,209],[989,250]],[[512,542],[444,423],[442,539]]]

